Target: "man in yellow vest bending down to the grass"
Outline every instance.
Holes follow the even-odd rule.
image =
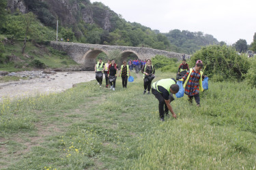
[[[174,100],[173,94],[176,94],[180,90],[176,81],[171,78],[158,80],[152,84],[152,94],[158,99],[158,109],[161,121],[165,121],[165,114],[169,115],[170,111],[173,118],[176,118],[176,114],[171,107],[171,101]],[[164,108],[165,107],[165,108]]]

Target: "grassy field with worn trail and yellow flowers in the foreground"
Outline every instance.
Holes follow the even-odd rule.
[[[0,103],[0,169],[255,169],[255,89],[210,82],[201,107],[186,96],[160,122],[143,75],[115,91],[96,81]],[[175,77],[156,73],[156,80]],[[103,80],[104,81],[104,80]]]

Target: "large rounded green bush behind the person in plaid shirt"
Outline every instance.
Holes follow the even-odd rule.
[[[203,61],[203,73],[217,82],[244,80],[250,67],[246,56],[237,54],[234,48],[227,46],[203,47],[193,54],[189,64],[193,66],[197,60]]]

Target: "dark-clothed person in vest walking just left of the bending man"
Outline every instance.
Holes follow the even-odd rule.
[[[154,74],[155,74],[155,69],[150,59],[147,59],[147,63],[141,69],[141,72],[143,73],[143,80],[144,80],[143,95],[145,95],[146,91],[147,91],[147,94],[150,95],[151,83],[152,83],[152,80],[154,79]]]

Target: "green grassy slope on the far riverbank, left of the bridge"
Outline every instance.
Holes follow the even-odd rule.
[[[27,42],[25,48],[25,55],[21,54],[23,41],[14,41],[14,44],[5,44],[5,53],[3,56],[18,56],[21,61],[11,61],[9,63],[0,64],[1,71],[25,71],[34,69],[35,66],[31,65],[33,60],[39,60],[44,63],[46,67],[59,68],[66,65],[78,65],[69,56],[53,50],[48,46],[38,48],[31,42]],[[29,58],[27,56],[29,56]]]

